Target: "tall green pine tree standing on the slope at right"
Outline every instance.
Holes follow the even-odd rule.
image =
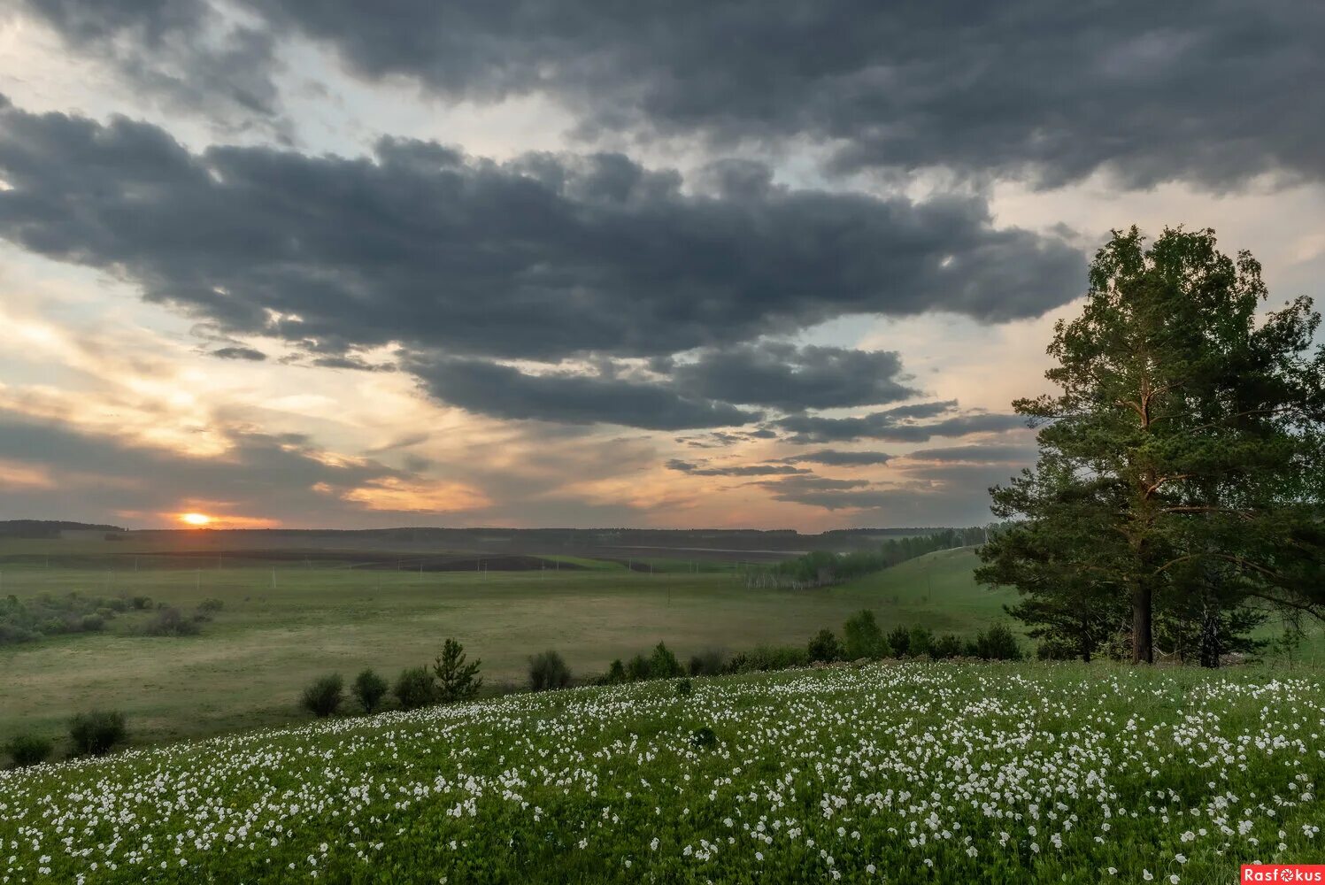
[[[1248,603],[1325,615],[1310,301],[1259,322],[1260,265],[1219,253],[1212,231],[1166,229],[1150,249],[1116,231],[1089,282],[1048,348],[1061,392],[1014,403],[1040,457],[991,489],[1019,522],[980,550],[978,578],[1018,587],[1012,611],[1083,654],[1125,604],[1133,661],[1154,660],[1157,611],[1187,636],[1198,617],[1207,665],[1240,641]]]

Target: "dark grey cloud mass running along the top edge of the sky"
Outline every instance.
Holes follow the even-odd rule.
[[[203,4],[53,8],[113,16],[150,46],[163,20],[196,28]],[[810,136],[836,146],[841,170],[938,164],[1043,185],[1101,167],[1136,187],[1325,176],[1325,93],[1302,87],[1325,81],[1325,5],[1302,0],[238,5],[333,46],[360,77],[478,102],[550,94],[586,132]],[[93,45],[70,15],[45,17]],[[233,89],[246,64],[211,73]],[[759,187],[758,170],[726,175]]]

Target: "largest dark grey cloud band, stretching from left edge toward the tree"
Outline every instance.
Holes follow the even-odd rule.
[[[849,313],[1031,317],[1084,280],[1079,252],[994,228],[979,200],[686,196],[620,155],[496,164],[390,139],[372,159],[196,155],[155,126],[8,107],[0,176],[0,237],[323,358],[668,355]],[[814,379],[832,355],[804,359],[792,380],[828,397]]]

